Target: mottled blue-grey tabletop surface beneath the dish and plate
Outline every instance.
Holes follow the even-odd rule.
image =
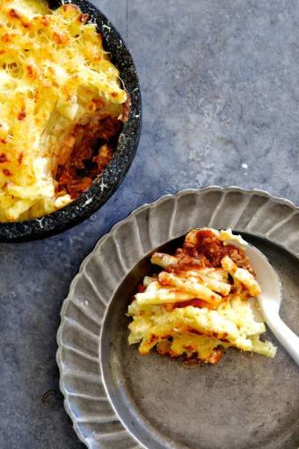
[[[76,449],[58,393],[59,310],[112,224],[160,195],[210,184],[299,203],[299,2],[94,0],[132,50],[143,132],[118,192],[45,241],[1,244],[2,449]],[[42,395],[57,391],[45,403]]]

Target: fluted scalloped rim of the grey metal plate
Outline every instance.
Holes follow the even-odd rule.
[[[208,220],[204,217],[203,220],[201,218],[201,222],[199,222],[200,220],[196,219],[196,216],[191,218],[189,216],[186,218],[185,215],[181,218],[180,223],[178,223],[178,220],[175,220],[175,218],[178,218],[178,204],[180,201],[193,196],[196,197],[196,199],[203,198],[204,203],[204,196],[208,194],[219,195],[218,201],[210,204],[210,206],[206,205],[206,210],[209,208]],[[231,204],[233,196],[235,197],[234,201],[236,201],[236,203]],[[255,213],[248,218],[246,226],[241,226],[241,224],[238,226],[238,222],[240,223],[242,221],[242,213],[245,211],[246,206],[250,203],[253,197],[263,198],[261,205],[259,205]],[[258,201],[257,198],[256,200]],[[170,203],[172,203],[172,208],[170,212],[167,212],[166,205],[169,205]],[[276,208],[279,210],[276,210]],[[158,231],[155,240],[155,237],[153,237],[153,235],[151,236],[151,225],[153,225],[155,220],[157,224],[157,220],[159,220],[159,217],[161,220],[161,216],[164,220],[165,211],[169,215],[169,227],[164,232],[163,236],[159,236]],[[224,213],[224,211],[226,211],[226,213]],[[147,212],[148,215],[146,218]],[[274,216],[276,218],[279,217],[279,219],[273,224]],[[143,240],[143,236],[140,234],[140,228],[138,229],[138,232],[136,232],[136,224],[138,227],[138,222],[142,220],[142,217],[145,220],[148,220],[147,229],[145,231],[148,234],[147,240]],[[292,222],[293,220],[294,222]],[[199,190],[182,190],[174,195],[164,195],[153,203],[146,203],[133,211],[127,218],[115,224],[108,234],[100,238],[94,250],[83,260],[79,273],[71,283],[69,295],[62,304],[60,312],[61,322],[57,333],[58,350],[56,360],[60,372],[60,390],[65,397],[65,409],[73,422],[75,433],[87,447],[90,449],[108,449],[111,447],[114,449],[123,449],[123,447],[141,449],[144,447],[120,421],[106,390],[100,361],[101,328],[105,320],[106,312],[120,282],[135,264],[154,248],[159,247],[168,240],[183,235],[188,229],[195,226],[209,226],[215,228],[231,227],[240,232],[248,232],[260,237],[268,238],[298,257],[299,231],[297,231],[298,227],[296,220],[299,220],[299,208],[288,199],[275,197],[267,191],[259,189],[246,190],[234,186],[210,186]],[[130,232],[128,234],[130,227],[134,230],[133,235],[136,235],[136,241],[130,242],[130,248],[132,248],[132,251],[133,253],[135,252],[135,254],[130,260],[124,260],[121,230],[123,230],[123,236],[125,235],[127,237],[128,235],[131,235]],[[157,228],[158,227],[156,227],[156,229]],[[103,272],[105,274],[105,270],[103,270],[96,261],[100,260],[101,253],[104,252],[104,246],[105,244],[108,244],[107,242],[109,239],[113,240],[115,244],[115,254],[109,252],[110,259],[113,259],[114,264],[118,263],[121,269],[118,274],[112,274],[108,269],[106,277],[104,277],[106,284],[109,284],[107,287],[106,284],[101,283],[101,276],[103,275]],[[143,244],[143,241],[145,244]],[[138,246],[138,251],[135,251],[134,244],[136,244],[136,247]],[[97,271],[96,276],[91,277],[92,272],[90,272],[90,267],[93,266],[93,264],[96,264]],[[90,312],[87,314],[86,310],[84,310],[82,301],[80,301],[80,295],[79,300],[76,300],[78,282],[81,281],[83,281],[83,285],[84,282],[89,282],[91,290],[96,297],[96,301],[99,300],[101,302],[101,308],[103,310],[101,310],[100,313],[94,309],[92,310],[92,315]],[[72,307],[75,305],[75,315],[70,311],[70,305],[72,305]],[[88,322],[86,319],[92,319],[93,325],[98,323],[97,334],[92,334],[91,330],[86,328],[86,323]],[[64,341],[66,336],[68,337],[67,339],[69,339],[67,343]],[[84,366],[78,366],[76,363],[72,366],[72,358],[69,358],[70,351],[77,351],[80,353],[80,350],[76,349],[78,338],[86,338],[88,348],[91,349],[93,344],[94,348],[96,348],[95,351],[97,351],[97,357],[95,357],[94,354],[88,353],[90,349],[88,349],[85,354],[81,354],[84,358]],[[93,363],[94,369],[96,363],[94,360],[95,358],[97,359],[98,368],[96,373],[89,370],[91,366],[88,366],[89,363]],[[72,391],[69,375],[77,375],[77,373],[79,373],[79,383],[76,384],[77,389]],[[88,401],[89,399],[90,401],[96,401],[96,398],[82,393],[82,391],[84,392],[89,385],[89,382],[96,382],[98,383],[99,389],[101,387],[103,397],[101,397],[100,400],[107,401],[107,405],[110,405],[109,412],[105,410],[102,414],[99,414],[98,411],[94,416],[90,414],[90,411],[88,411]],[[94,403],[95,402],[93,402],[93,404]],[[93,428],[93,423],[99,422],[102,423],[101,432],[98,431],[96,426]],[[115,431],[111,431],[111,423],[118,424]]]

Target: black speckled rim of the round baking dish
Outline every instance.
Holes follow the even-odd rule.
[[[48,2],[51,7],[61,5],[62,0]],[[136,67],[119,32],[109,19],[88,0],[72,0],[82,12],[88,13],[95,21],[103,36],[103,44],[112,54],[112,61],[120,71],[120,77],[130,95],[131,112],[114,151],[113,159],[94,180],[93,185],[78,199],[41,218],[0,223],[0,242],[37,240],[70,229],[95,213],[114,194],[133,162],[141,132],[141,93]]]

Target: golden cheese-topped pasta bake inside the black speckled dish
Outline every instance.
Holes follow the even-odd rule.
[[[67,205],[112,158],[129,98],[88,19],[70,3],[0,3],[0,221]]]

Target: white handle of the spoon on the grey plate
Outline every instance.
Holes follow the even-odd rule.
[[[299,337],[291,331],[278,314],[271,316],[271,320],[267,320],[267,324],[277,340],[299,365]]]

